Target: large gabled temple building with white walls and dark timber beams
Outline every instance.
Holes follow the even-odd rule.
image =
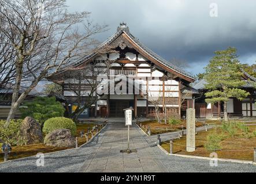
[[[162,112],[163,107],[168,113],[182,117],[186,108],[194,108],[193,94],[197,91],[190,87],[190,83],[195,79],[140,43],[129,32],[127,24],[121,23],[117,32],[97,49],[49,77],[63,87],[63,95],[69,99],[70,108],[75,110],[77,94],[68,86],[87,91],[83,93],[83,101],[87,100],[91,87],[86,81],[78,83],[73,80],[71,85],[70,80],[64,77],[68,76],[65,73],[75,72],[76,68],[88,64],[95,65],[93,70],[105,68],[107,78],[98,88],[102,89],[107,84],[107,93],[99,94],[97,90],[93,94],[97,96],[97,102],[84,109],[80,118],[123,117],[123,109],[131,106],[135,117],[154,116],[155,110],[158,108]],[[91,77],[89,72],[87,75]]]

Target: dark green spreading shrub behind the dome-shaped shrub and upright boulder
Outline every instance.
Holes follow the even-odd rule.
[[[31,102],[24,102],[23,106],[26,108],[20,108],[22,118],[33,117],[41,125],[51,117],[62,117],[65,112],[63,105],[55,97],[36,97]]]

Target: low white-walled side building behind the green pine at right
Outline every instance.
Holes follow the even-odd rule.
[[[243,72],[242,80],[246,81],[246,84],[240,89],[243,89],[250,93],[247,98],[240,101],[237,98],[230,98],[227,103],[227,112],[229,117],[253,117],[256,116],[256,89],[253,82],[256,82],[256,78],[249,75],[247,72],[241,69]],[[200,95],[195,97],[195,113],[197,118],[211,118],[211,117],[224,117],[224,107],[222,102],[216,104],[207,104],[205,102],[205,84],[207,82],[202,79],[193,85],[194,89],[198,90]]]

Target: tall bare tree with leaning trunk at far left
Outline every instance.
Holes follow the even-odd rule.
[[[18,106],[38,82],[87,55],[97,44],[92,36],[105,31],[106,26],[85,22],[90,15],[87,11],[68,13],[64,0],[1,0],[0,14],[5,25],[0,34],[11,41],[15,53],[16,78],[5,124],[8,127]],[[82,33],[79,25],[84,25]],[[24,72],[31,82],[18,94]]]

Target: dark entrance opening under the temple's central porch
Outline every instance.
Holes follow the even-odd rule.
[[[110,100],[110,117],[124,117],[124,109],[133,107],[132,100],[112,99]]]

